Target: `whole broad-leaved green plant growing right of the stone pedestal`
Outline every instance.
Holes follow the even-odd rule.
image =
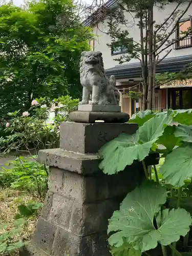
[[[192,110],[147,110],[129,122],[138,124],[135,134],[120,134],[99,151],[105,174],[119,173],[134,161],[142,162],[145,173],[143,183],[126,195],[109,220],[112,253],[150,255],[149,250],[160,244],[163,256],[183,255],[176,242],[184,237],[187,248],[192,222]],[[148,172],[144,159],[153,152],[164,161]]]

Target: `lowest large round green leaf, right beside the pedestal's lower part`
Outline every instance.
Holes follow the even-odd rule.
[[[149,241],[142,246],[143,239],[150,239],[151,232],[155,230],[154,216],[161,209],[160,205],[166,201],[166,189],[155,183],[146,182],[127,194],[109,221],[108,232],[117,231],[109,239],[111,245],[121,246],[123,238],[128,243],[135,242],[137,250],[148,250],[157,246],[157,241]],[[152,247],[151,247],[152,246]]]

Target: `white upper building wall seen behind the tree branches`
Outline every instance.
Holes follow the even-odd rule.
[[[159,10],[158,7],[154,8],[154,17],[156,20],[156,24],[162,24],[164,19],[168,17],[168,15],[174,10],[176,7],[176,3],[169,4],[165,7],[164,10]],[[185,9],[186,5],[182,5],[179,9]],[[183,18],[188,18],[190,15],[192,15],[192,5],[189,7],[189,10],[185,13]],[[126,29],[130,32],[130,37],[133,37],[133,39],[137,42],[140,40],[140,31],[139,28],[136,26],[138,23],[138,20],[135,19],[135,22],[133,20],[133,16],[130,13],[126,13],[126,18],[130,21],[130,26]],[[174,24],[174,23],[173,23]],[[169,29],[172,29],[173,26],[170,26]],[[103,54],[103,61],[104,61],[104,68],[112,68],[116,65],[118,65],[118,61],[115,61],[114,58],[118,58],[120,55],[111,55],[111,49],[106,45],[107,43],[110,44],[111,38],[109,35],[106,34],[108,32],[108,26],[107,26],[107,19],[105,18],[103,22],[99,22],[97,25],[93,27],[93,33],[95,34],[95,42],[94,42],[94,50],[95,51],[101,51]],[[170,36],[170,40],[175,39],[176,33],[174,32],[172,36]],[[173,46],[171,46],[169,49],[173,49]],[[179,50],[172,50],[168,54],[167,57],[176,57],[176,56],[182,56],[182,55],[188,55],[191,54],[192,48],[186,48],[186,49],[179,49]],[[166,52],[163,52],[160,54],[160,58],[164,56]],[[137,59],[132,59],[130,63],[137,62]]]

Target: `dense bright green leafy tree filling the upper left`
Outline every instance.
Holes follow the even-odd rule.
[[[71,0],[0,6],[0,116],[30,108],[34,98],[80,97],[80,54],[89,29]]]

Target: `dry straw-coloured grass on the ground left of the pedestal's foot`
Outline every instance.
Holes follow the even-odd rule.
[[[6,230],[0,230],[0,235],[8,231],[9,229],[12,229],[14,217],[18,212],[17,206],[21,203],[26,203],[28,201],[35,201],[42,203],[42,199],[35,196],[34,194],[30,195],[29,193],[26,193],[26,191],[19,191],[16,189],[10,189],[10,188],[0,188],[0,226],[1,225],[8,225]],[[11,243],[17,242],[17,241],[29,241],[31,238],[31,235],[34,232],[35,225],[37,222],[37,219],[39,217],[40,210],[38,210],[36,216],[32,216],[30,218],[25,218],[25,226],[24,229],[19,232],[16,236],[14,236],[13,240],[11,240]],[[6,255],[1,254],[0,255]],[[18,250],[9,253],[7,255],[10,256],[17,256]]]

